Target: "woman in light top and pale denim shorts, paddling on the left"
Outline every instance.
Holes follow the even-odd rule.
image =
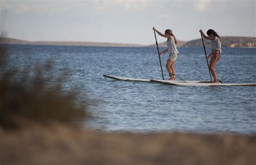
[[[175,69],[174,69],[174,63],[177,60],[177,56],[179,54],[176,44],[177,40],[176,37],[173,35],[172,31],[170,29],[165,30],[165,34],[162,34],[159,32],[156,27],[153,27],[153,30],[156,31],[161,37],[167,38],[166,44],[167,44],[167,49],[165,49],[163,52],[159,52],[159,55],[168,52],[169,53],[169,58],[166,62],[166,68],[169,72],[170,79],[169,80],[176,80],[175,77]]]

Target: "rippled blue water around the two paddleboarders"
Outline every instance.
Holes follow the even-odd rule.
[[[69,70],[64,90],[79,88],[93,118],[105,131],[256,132],[255,87],[177,87],[105,79],[103,74],[161,79],[156,48],[9,45],[12,66],[55,61]],[[160,48],[162,50],[163,48]],[[210,80],[203,48],[179,48],[176,71],[184,80]],[[210,52],[210,49],[207,50]],[[165,77],[167,54],[161,56]],[[256,49],[223,48],[216,71],[226,83],[256,82]]]

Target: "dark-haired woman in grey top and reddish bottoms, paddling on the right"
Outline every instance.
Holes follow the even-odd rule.
[[[212,52],[210,55],[206,56],[206,59],[211,58],[210,61],[210,66],[209,69],[212,73],[212,76],[214,78],[213,83],[218,83],[218,76],[216,71],[214,70],[217,61],[220,59],[221,55],[221,42],[220,42],[220,37],[219,35],[212,29],[209,29],[206,33],[207,35],[204,34],[203,30],[199,31],[205,39],[211,40],[211,47],[212,47]]]

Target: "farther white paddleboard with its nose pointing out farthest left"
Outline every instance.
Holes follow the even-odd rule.
[[[153,82],[150,79],[143,79],[143,78],[127,78],[127,77],[117,77],[112,75],[103,75],[107,78],[112,78],[114,80],[122,80],[122,81],[134,81],[134,82]],[[160,81],[160,80],[159,80]],[[163,82],[184,82],[184,81],[169,81],[169,80],[162,80]],[[186,81],[186,82],[193,82],[193,83],[199,83],[199,82],[206,82],[206,81]]]

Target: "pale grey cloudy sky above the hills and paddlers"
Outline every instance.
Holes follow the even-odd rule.
[[[29,41],[154,44],[152,27],[178,40],[256,37],[256,0],[0,0],[0,30]],[[158,37],[158,42],[165,41]]]

